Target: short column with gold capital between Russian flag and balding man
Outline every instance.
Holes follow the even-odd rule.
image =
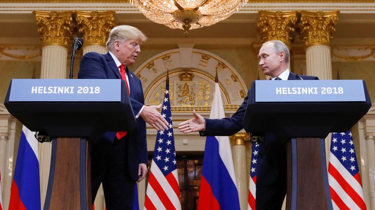
[[[229,137],[232,141],[233,166],[236,175],[236,185],[240,198],[241,210],[246,210],[248,208],[249,185],[247,182],[248,175],[245,140],[249,140],[249,138],[250,136],[248,133],[237,133]]]

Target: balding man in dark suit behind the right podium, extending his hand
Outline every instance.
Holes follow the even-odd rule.
[[[271,80],[315,80],[315,76],[297,75],[288,69],[289,50],[278,40],[265,42],[259,51],[259,65]],[[249,90],[250,91],[250,90]],[[249,92],[248,92],[249,95]],[[229,118],[205,119],[193,111],[194,118],[180,123],[184,133],[199,131],[201,136],[230,136],[243,129],[248,97]],[[265,133],[265,141],[259,144],[258,172],[256,178],[257,210],[280,210],[286,194],[286,142],[288,137]]]

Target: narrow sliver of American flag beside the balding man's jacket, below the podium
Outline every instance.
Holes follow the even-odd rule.
[[[257,174],[257,159],[258,159],[258,142],[251,144],[251,163],[250,163],[250,181],[249,181],[249,202],[248,210],[255,210],[255,191],[256,191],[256,174]]]

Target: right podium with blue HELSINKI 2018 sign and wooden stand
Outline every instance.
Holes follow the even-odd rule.
[[[252,83],[245,130],[290,138],[286,148],[287,209],[333,208],[324,138],[330,132],[348,131],[370,107],[362,80]]]

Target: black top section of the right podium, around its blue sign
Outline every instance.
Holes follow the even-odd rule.
[[[247,132],[273,132],[289,137],[322,137],[346,132],[371,107],[363,82],[364,102],[255,102],[255,81],[250,89],[243,126]]]

